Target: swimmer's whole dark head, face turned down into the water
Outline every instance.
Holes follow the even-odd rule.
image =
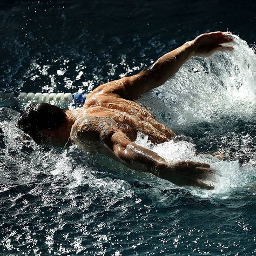
[[[36,143],[63,144],[60,132],[65,125],[65,110],[51,104],[30,104],[19,116],[17,126]]]

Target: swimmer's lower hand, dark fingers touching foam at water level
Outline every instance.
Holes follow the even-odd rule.
[[[212,177],[214,171],[210,165],[194,161],[180,161],[173,163],[160,173],[160,178],[170,180],[178,186],[198,186],[213,190],[214,186],[205,182]]]

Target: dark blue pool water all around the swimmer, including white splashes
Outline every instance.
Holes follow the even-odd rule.
[[[167,160],[210,163],[210,192],[76,146],[40,147],[2,108],[1,254],[256,254],[253,1],[1,1],[0,21],[0,90],[16,93],[91,91],[203,32],[228,29],[249,45],[236,37],[233,53],[191,60],[141,100],[194,144],[156,146],[140,134],[137,143]],[[196,147],[226,160],[195,156]]]

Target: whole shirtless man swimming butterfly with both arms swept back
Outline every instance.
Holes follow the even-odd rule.
[[[178,186],[211,189],[205,182],[213,173],[210,165],[194,161],[168,163],[157,153],[134,143],[138,132],[149,136],[155,144],[176,136],[134,100],[164,84],[187,59],[230,51],[232,46],[222,44],[232,41],[229,32],[205,33],[161,56],[137,75],[98,86],[80,109],[31,104],[17,125],[37,143],[65,146],[72,142],[86,151],[103,153],[133,170],[150,172]]]

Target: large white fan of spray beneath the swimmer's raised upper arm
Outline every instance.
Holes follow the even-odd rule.
[[[155,90],[164,98],[152,105],[150,93],[143,102],[156,110],[159,117],[166,112],[172,125],[179,126],[213,122],[225,114],[255,115],[256,56],[245,41],[238,36],[233,38],[232,52],[188,60],[173,78]]]

